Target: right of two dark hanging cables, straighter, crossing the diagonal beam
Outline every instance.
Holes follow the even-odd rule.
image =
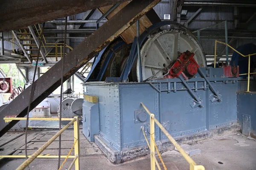
[[[63,49],[63,58],[61,60],[61,96],[60,96],[59,130],[61,130],[63,75],[64,75],[64,58],[65,58],[65,55],[66,55],[66,38],[67,38],[67,17],[65,18],[64,47],[63,47],[64,49]],[[59,136],[58,169],[60,168],[60,165],[61,165],[61,135]]]

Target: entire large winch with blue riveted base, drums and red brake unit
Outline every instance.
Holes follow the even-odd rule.
[[[186,28],[156,23],[132,44],[119,38],[96,56],[84,83],[83,133],[113,163],[146,155],[140,129],[149,138],[149,116],[143,102],[173,137],[199,141],[239,127],[236,92],[246,86],[238,66],[207,67],[200,43]],[[161,150],[169,146],[158,127],[155,140]]]

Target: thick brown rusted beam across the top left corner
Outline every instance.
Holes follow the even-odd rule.
[[[1,0],[0,32],[20,29],[126,0]]]

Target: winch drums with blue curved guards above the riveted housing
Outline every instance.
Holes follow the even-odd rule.
[[[170,29],[160,29],[163,26]],[[137,62],[137,43],[141,49],[141,68]],[[139,38],[135,37],[132,44],[126,44],[121,38],[113,41],[95,58],[87,81],[104,81],[106,78],[111,81],[109,77],[119,77],[122,81],[142,82],[153,75],[159,78],[168,72],[178,53],[187,50],[195,54],[199,66],[206,66],[202,47],[189,30],[175,22],[156,23]]]

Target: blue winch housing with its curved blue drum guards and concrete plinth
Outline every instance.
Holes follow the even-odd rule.
[[[97,82],[86,82],[83,85],[84,95],[97,96],[99,100],[98,104],[84,101],[83,133],[89,141],[95,141],[113,163],[149,153],[143,135],[144,131],[148,139],[150,137],[149,115],[141,102],[178,141],[186,138],[194,140],[194,136],[203,138],[215,131],[218,133],[239,127],[236,92],[245,91],[247,81],[241,77],[225,77],[224,68],[202,67],[188,81],[180,77],[144,83],[126,82],[137,59],[137,46],[141,47],[151,32],[170,24],[177,26],[170,21],[156,23],[140,37],[135,37],[122,74],[107,77],[102,82],[114,52],[124,44],[122,41],[113,43],[115,45],[107,50],[97,77],[88,79]],[[181,25],[178,27],[183,28]],[[183,29],[188,32],[186,28]],[[102,55],[98,55],[98,63]],[[90,72],[93,72],[96,65],[97,62]],[[158,126],[155,127],[155,141],[160,150],[171,144]]]

